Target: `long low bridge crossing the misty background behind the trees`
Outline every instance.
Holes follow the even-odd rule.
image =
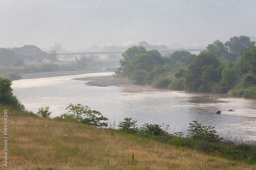
[[[157,49],[157,50],[159,51],[159,53],[164,55],[167,52],[172,53],[172,52],[180,50],[180,49],[183,49],[183,48],[169,48],[169,49]],[[203,51],[203,50],[206,50],[206,47],[190,47],[190,48],[186,48],[185,50],[189,51],[189,52]],[[59,53],[59,56],[71,56],[71,55],[87,56],[87,55],[100,55],[100,54],[122,54],[125,51],[126,50],[120,50],[120,51],[71,51],[71,52]]]

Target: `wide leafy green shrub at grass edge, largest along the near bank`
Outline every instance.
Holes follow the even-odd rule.
[[[69,109],[68,113],[57,116],[57,119],[65,119],[76,122],[82,122],[83,124],[88,124],[92,126],[108,126],[107,123],[101,121],[109,120],[96,110],[91,110],[88,106],[82,106],[81,104],[73,105],[72,103],[66,107]]]

